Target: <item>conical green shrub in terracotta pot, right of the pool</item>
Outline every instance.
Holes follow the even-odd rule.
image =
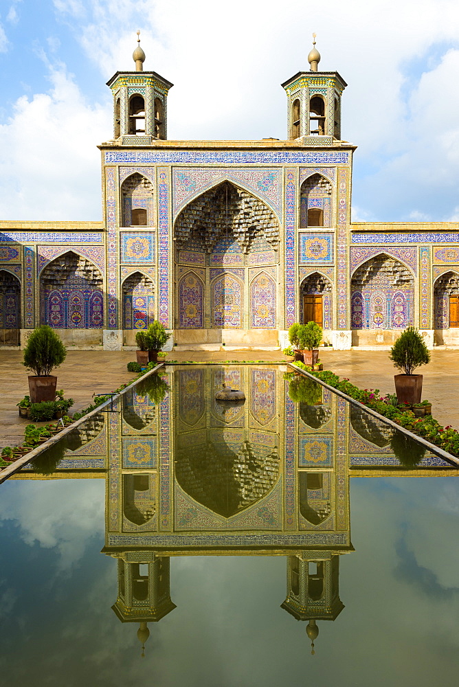
[[[394,375],[395,392],[399,403],[421,403],[423,375],[413,374],[420,365],[427,365],[430,354],[416,327],[408,327],[390,349],[390,360],[397,370]]]

